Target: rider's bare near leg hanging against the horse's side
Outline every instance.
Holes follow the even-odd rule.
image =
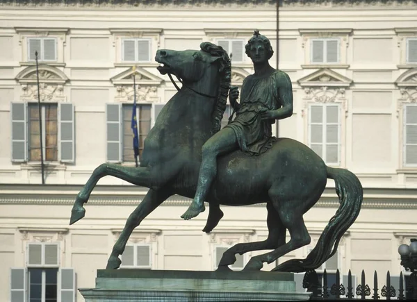
[[[231,128],[223,128],[221,131],[210,137],[203,145],[202,164],[199,170],[195,198],[181,218],[191,219],[205,210],[204,199],[206,199],[210,185],[217,174],[217,157],[236,149],[238,149],[238,140]]]

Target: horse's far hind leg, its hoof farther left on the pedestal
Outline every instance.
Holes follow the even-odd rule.
[[[247,253],[249,251],[260,251],[264,249],[277,249],[277,247],[285,244],[286,228],[279,219],[278,212],[271,203],[267,203],[268,210],[267,226],[268,238],[259,242],[239,243],[232,246],[225,251],[220,260],[218,270],[229,270],[228,265],[233,265],[236,262],[236,254]]]

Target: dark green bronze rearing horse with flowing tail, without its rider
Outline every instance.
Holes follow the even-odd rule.
[[[219,131],[230,86],[229,56],[215,44],[204,42],[201,50],[158,50],[161,74],[174,74],[183,87],[167,102],[145,139],[140,167],[102,164],[76,196],[70,224],[83,218],[83,204],[101,177],[111,175],[134,185],[148,187],[145,198],[126,221],[113,246],[107,269],[120,267],[121,255],[134,228],[168,197],[195,196],[202,146]],[[210,205],[204,231],[210,232],[222,218],[220,205],[266,203],[268,238],[236,244],[224,252],[219,269],[229,269],[236,253],[272,249],[254,256],[245,270],[259,270],[264,262],[311,242],[303,215],[320,199],[327,178],[334,179],[340,206],[306,259],[288,260],[273,270],[302,272],[316,269],[336,253],[338,242],[361,209],[363,190],[358,178],[346,169],[327,167],[309,147],[289,138],[278,138],[260,156],[234,151],[218,158],[207,202]],[[291,240],[286,242],[286,230]]]

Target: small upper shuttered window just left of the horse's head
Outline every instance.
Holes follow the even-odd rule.
[[[151,40],[122,39],[122,61],[149,62],[151,60]]]

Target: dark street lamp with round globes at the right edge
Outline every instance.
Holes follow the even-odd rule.
[[[401,244],[398,253],[401,255],[401,265],[406,271],[411,271],[407,291],[411,292],[411,299],[417,300],[417,239],[412,238],[411,244]]]

